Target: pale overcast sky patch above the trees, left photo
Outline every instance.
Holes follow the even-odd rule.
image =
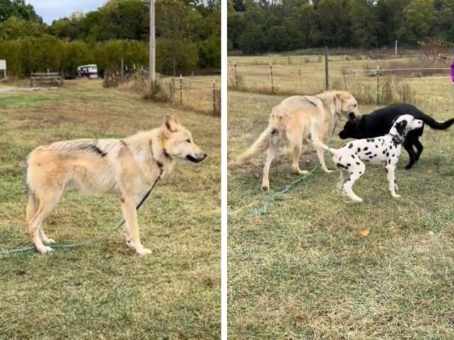
[[[88,12],[102,6],[106,0],[26,0],[45,23],[70,16],[73,12]]]

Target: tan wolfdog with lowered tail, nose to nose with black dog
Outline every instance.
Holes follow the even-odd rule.
[[[272,108],[268,127],[262,132],[251,147],[238,157],[244,162],[255,154],[267,153],[263,166],[262,189],[270,190],[270,165],[275,159],[280,142],[287,142],[292,152],[292,171],[294,174],[307,174],[309,171],[299,169],[303,140],[308,140],[311,130],[318,132],[319,138],[331,137],[342,118],[355,120],[360,117],[355,97],[347,91],[327,91],[316,96],[292,96],[284,99]],[[326,168],[323,149],[316,147],[321,169]]]

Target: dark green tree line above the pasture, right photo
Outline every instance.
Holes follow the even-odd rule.
[[[415,47],[454,42],[453,0],[228,0],[228,50]]]

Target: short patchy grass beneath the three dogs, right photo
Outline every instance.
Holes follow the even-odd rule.
[[[423,111],[454,116],[448,77],[417,86],[427,94],[417,98]],[[336,191],[338,171],[316,169],[258,215],[270,195],[260,189],[263,158],[239,165],[235,157],[283,98],[228,94],[229,339],[454,339],[453,128],[426,127],[409,171],[402,152],[402,198],[391,197],[381,168],[367,167],[355,184],[360,204]],[[343,145],[337,133],[331,145]],[[317,163],[306,147],[301,169]],[[289,170],[287,158],[273,162],[271,194],[297,179]]]

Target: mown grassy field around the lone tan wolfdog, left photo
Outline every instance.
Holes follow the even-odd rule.
[[[0,259],[0,339],[218,339],[220,130],[218,118],[143,101],[100,81],[0,95],[0,250],[28,246],[25,162],[38,145],[123,137],[177,113],[209,154],[163,179],[138,212],[136,256],[118,230],[101,242]],[[57,242],[99,237],[120,220],[115,198],[69,192],[45,223]]]

